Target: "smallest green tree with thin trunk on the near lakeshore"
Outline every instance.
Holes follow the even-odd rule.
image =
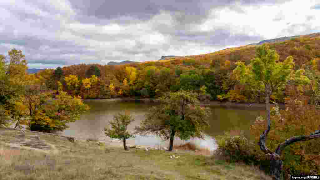
[[[124,150],[128,150],[125,140],[133,137],[133,135],[127,131],[127,127],[133,121],[133,117],[128,112],[118,113],[113,116],[113,120],[109,121],[111,128],[106,127],[104,129],[105,135],[110,138],[123,140]]]

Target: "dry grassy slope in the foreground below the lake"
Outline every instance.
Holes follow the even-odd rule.
[[[26,132],[23,140],[21,134],[0,128],[0,179],[270,179],[254,167],[182,151],[124,151],[32,132]],[[28,142],[32,139],[37,141]],[[23,141],[28,142],[24,147],[8,146]],[[172,154],[180,158],[170,159]]]

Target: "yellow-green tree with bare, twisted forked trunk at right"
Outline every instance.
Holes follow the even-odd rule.
[[[233,72],[241,83],[251,84],[257,91],[263,91],[266,102],[267,129],[260,135],[260,149],[270,155],[270,173],[275,179],[282,178],[282,160],[280,155],[284,147],[298,142],[320,137],[320,134],[307,136],[296,136],[287,139],[279,144],[275,152],[270,151],[266,146],[266,139],[270,131],[270,96],[279,88],[283,89],[288,82],[308,83],[309,79],[303,75],[303,70],[294,72],[294,62],[292,56],[288,56],[283,62],[279,62],[279,55],[274,50],[270,50],[268,45],[261,45],[256,50],[256,57],[246,66],[243,62],[237,62],[237,67]]]

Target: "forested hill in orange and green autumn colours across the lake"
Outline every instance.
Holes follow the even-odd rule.
[[[308,68],[312,60],[320,68],[320,33],[267,44],[279,54],[279,61],[292,55],[296,70]],[[65,91],[83,98],[152,98],[182,88],[196,91],[204,99],[263,102],[263,94],[255,94],[248,86],[240,85],[232,74],[237,61],[250,63],[256,47],[258,45],[245,45],[208,54],[114,66],[71,65],[63,67],[57,75],[52,74],[54,70],[40,71],[37,75],[47,77],[46,84],[50,88],[57,88],[57,80],[60,80]],[[98,78],[90,78],[91,75]],[[272,98],[283,102],[285,95],[278,92]]]

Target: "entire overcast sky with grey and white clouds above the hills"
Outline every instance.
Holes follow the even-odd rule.
[[[0,12],[0,54],[20,49],[29,68],[150,61],[320,32],[318,0],[1,0]]]

